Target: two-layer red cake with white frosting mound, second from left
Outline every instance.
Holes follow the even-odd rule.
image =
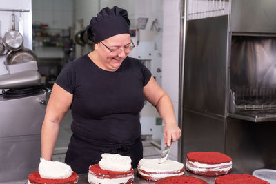
[[[119,154],[102,154],[99,164],[90,165],[88,182],[90,184],[121,184],[133,183],[134,170],[130,156]]]

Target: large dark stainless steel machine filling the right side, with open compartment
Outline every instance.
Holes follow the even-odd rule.
[[[238,173],[275,169],[276,1],[184,3],[181,161],[217,151]]]

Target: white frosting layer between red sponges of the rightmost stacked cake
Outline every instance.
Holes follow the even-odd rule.
[[[207,163],[199,163],[186,161],[186,169],[193,170],[195,172],[206,172],[208,171],[228,171],[232,169],[232,161],[227,163],[219,163],[219,164],[207,164]]]

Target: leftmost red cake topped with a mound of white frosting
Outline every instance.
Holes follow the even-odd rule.
[[[28,176],[28,184],[73,184],[77,183],[78,176],[69,165],[58,161],[40,159],[39,170]]]

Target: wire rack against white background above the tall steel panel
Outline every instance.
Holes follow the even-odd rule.
[[[229,0],[187,0],[187,20],[229,14]]]

